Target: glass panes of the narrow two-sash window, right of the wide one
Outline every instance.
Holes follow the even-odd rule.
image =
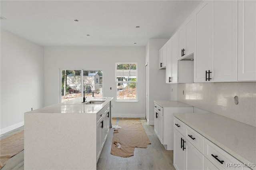
[[[116,100],[137,101],[137,63],[116,63]]]

